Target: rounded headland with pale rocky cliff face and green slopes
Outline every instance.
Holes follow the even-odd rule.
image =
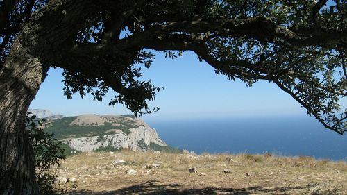
[[[154,128],[132,115],[80,115],[51,121],[46,131],[74,151],[132,149],[147,151],[168,147]]]

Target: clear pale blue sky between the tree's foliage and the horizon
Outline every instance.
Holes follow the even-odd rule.
[[[260,81],[246,87],[241,81],[229,81],[214,73],[205,62],[199,62],[194,53],[171,60],[159,53],[150,69],[143,69],[144,79],[151,79],[155,86],[164,87],[151,106],[160,111],[145,115],[144,119],[213,118],[297,115],[305,110],[273,83]],[[108,106],[114,93],[105,101],[93,102],[91,96],[76,94],[67,100],[62,92],[62,69],[50,69],[44,83],[31,103],[31,108],[44,108],[65,116],[94,113],[98,115],[127,114],[122,105]]]

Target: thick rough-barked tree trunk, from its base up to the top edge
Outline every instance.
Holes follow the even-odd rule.
[[[63,58],[60,46],[83,28],[92,8],[90,1],[50,1],[12,44],[0,70],[0,194],[40,194],[26,112],[49,66]]]

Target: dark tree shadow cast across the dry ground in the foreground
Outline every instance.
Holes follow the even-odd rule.
[[[139,185],[132,185],[130,187],[124,187],[121,189],[108,191],[108,192],[92,192],[90,190],[79,190],[74,192],[78,195],[113,195],[113,194],[146,194],[146,195],[157,195],[157,194],[169,194],[169,195],[182,195],[182,194],[288,194],[293,190],[310,189],[312,186],[289,186],[289,187],[273,187],[271,189],[264,189],[263,187],[248,187],[248,188],[216,188],[216,187],[205,187],[205,188],[185,188],[181,185],[160,185],[155,180],[150,180],[146,183]]]

